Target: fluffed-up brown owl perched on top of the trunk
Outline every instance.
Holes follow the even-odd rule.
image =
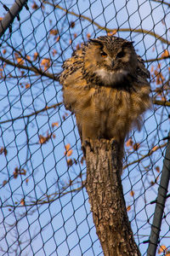
[[[150,108],[150,73],[133,42],[115,36],[90,39],[62,67],[65,108],[76,115],[82,144],[105,138],[122,147]]]

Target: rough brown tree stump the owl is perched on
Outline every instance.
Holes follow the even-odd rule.
[[[86,145],[86,189],[105,256],[139,256],[122,192],[118,148],[116,141],[105,139]]]

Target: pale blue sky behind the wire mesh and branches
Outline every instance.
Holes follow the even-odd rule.
[[[6,2],[8,7],[10,3],[13,1]],[[36,3],[39,6],[39,2],[36,1]],[[28,3],[30,12],[32,12],[32,4],[32,2]],[[165,34],[165,26],[161,23],[165,9],[162,4],[153,1],[134,0],[115,1],[114,3],[109,0],[103,2],[85,0],[78,1],[78,3],[77,1],[61,1],[59,5],[63,8],[66,5],[66,8],[71,11],[88,16],[101,26],[108,28],[115,29],[118,26],[120,29],[142,28],[163,35],[164,38],[169,36],[168,33]],[[6,44],[12,44],[14,49],[22,50],[23,55],[33,56],[41,49],[40,60],[34,61],[34,65],[39,67],[39,63],[44,58],[52,59],[53,63],[48,69],[49,73],[59,73],[62,61],[71,56],[72,46],[69,44],[69,39],[73,41],[73,47],[76,47],[77,44],[87,40],[87,33],[90,33],[92,37],[105,34],[104,31],[97,30],[96,26],[92,26],[88,20],[79,20],[72,15],[65,18],[65,12],[59,9],[54,11],[48,5],[45,10],[34,11],[31,18],[30,12],[26,9],[22,10],[20,22],[17,20],[14,22],[11,38],[8,38],[8,32],[6,32],[1,50],[3,52],[3,48],[8,49]],[[0,16],[3,16],[3,13],[5,11],[1,4]],[[166,17],[166,20],[168,19],[169,14]],[[49,20],[52,20],[51,23]],[[71,21],[75,21],[76,24],[72,30],[70,29]],[[48,38],[50,29],[58,29],[59,32],[62,29],[58,43],[56,43],[56,38]],[[77,37],[75,37],[75,32]],[[139,55],[143,56],[144,60],[156,57],[167,47],[150,35],[144,35],[143,38],[143,35],[135,32],[119,32],[118,36],[133,40],[135,49]],[[52,54],[53,49],[57,51],[56,55]],[[60,57],[61,52],[62,57]],[[11,55],[13,55],[13,50],[8,49],[5,58],[13,60]],[[164,73],[166,73],[167,64],[166,61],[161,63]],[[151,68],[150,63],[149,68]],[[20,70],[14,67],[5,67],[4,70],[7,79],[0,81],[1,121],[14,119],[33,113],[47,105],[51,106],[62,102],[62,91],[58,82],[45,77],[35,77],[33,73],[27,71],[29,79],[26,79],[21,75]],[[10,79],[10,73],[17,78]],[[26,83],[31,84],[31,87],[26,89]],[[155,88],[155,84],[152,86]],[[69,193],[41,207],[20,206],[22,198],[25,198],[27,203],[36,199],[47,199],[47,195],[54,195],[56,191],[61,192],[62,187],[65,187],[64,192],[68,189],[77,189],[82,180],[85,180],[85,165],[80,163],[82,151],[76,121],[71,113],[65,113],[64,106],[59,106],[59,108],[48,110],[48,113],[31,116],[29,125],[27,125],[27,119],[18,119],[1,125],[0,147],[6,147],[8,150],[6,157],[3,154],[0,155],[1,177],[2,183],[4,180],[8,180],[8,183],[1,186],[3,207],[0,212],[0,223],[3,232],[5,232],[5,228],[8,232],[6,239],[0,241],[0,245],[4,250],[10,245],[11,255],[14,254],[12,248],[16,245],[14,237],[18,237],[18,240],[22,241],[20,243],[21,255],[103,255],[95,234],[85,189]],[[162,143],[161,138],[167,135],[166,129],[169,125],[167,113],[166,108],[156,107],[145,114],[142,131],[132,132],[133,141],[140,143],[140,150],[131,154],[132,150],[127,148],[125,155],[128,155],[128,158],[126,160],[125,157],[125,164],[137,160],[142,154],[147,154],[151,147]],[[54,126],[53,129],[54,122],[58,122],[59,126]],[[157,130],[159,124],[161,124],[161,131]],[[26,131],[29,138],[26,137]],[[54,134],[55,138],[52,137],[48,143],[41,145],[38,143],[38,135],[45,137],[47,132]],[[66,165],[68,159],[65,156],[65,145],[68,143],[73,149],[73,154],[69,159],[77,160],[77,165],[70,168]],[[142,254],[146,252],[147,248],[142,241],[147,240],[150,235],[150,224],[147,224],[147,219],[154,212],[150,201],[156,199],[158,187],[157,185],[150,187],[150,181],[155,180],[158,175],[156,166],[160,166],[160,168],[162,166],[161,154],[163,154],[161,150],[156,152],[151,159],[151,168],[147,169],[150,159],[146,159],[128,166],[122,174],[125,199],[127,206],[131,206],[128,214],[132,221],[134,237]],[[20,175],[14,179],[14,168],[18,166],[26,170],[26,176]],[[70,187],[69,181],[76,178],[80,172],[83,173],[83,176],[77,178],[79,183],[75,182]],[[149,172],[148,175],[147,172]],[[130,195],[132,190],[133,196]],[[17,206],[14,211],[12,208],[12,211],[9,211],[10,207],[4,207],[9,204]],[[32,210],[34,212],[30,214]],[[166,211],[168,212],[168,207]],[[5,218],[5,228],[3,218]],[[17,226],[10,230],[8,224],[13,224],[16,219],[18,220]],[[165,236],[169,228],[168,220],[169,218],[166,218],[163,223],[162,236]],[[167,235],[169,236],[169,234]],[[167,240],[164,239],[162,243],[168,246]]]

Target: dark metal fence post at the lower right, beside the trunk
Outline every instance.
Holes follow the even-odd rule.
[[[163,216],[163,211],[165,207],[165,201],[167,199],[167,188],[170,178],[170,132],[168,134],[167,149],[165,154],[165,159],[163,160],[163,167],[161,172],[161,182],[158,189],[158,195],[156,198],[156,209],[154,213],[154,219],[150,232],[149,247],[147,251],[147,256],[156,255],[156,247],[159,240],[159,234],[161,230],[161,220]],[[152,203],[154,203],[152,202]]]

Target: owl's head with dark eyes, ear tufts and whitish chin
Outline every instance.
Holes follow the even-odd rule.
[[[135,77],[138,56],[133,43],[123,38],[105,36],[89,41],[84,54],[84,73],[95,84],[119,86]]]

